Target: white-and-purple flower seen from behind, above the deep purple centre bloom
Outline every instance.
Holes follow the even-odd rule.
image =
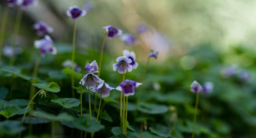
[[[120,74],[126,73],[127,70],[128,72],[132,71],[132,65],[130,65],[130,63],[132,62],[131,59],[125,56],[121,56],[116,59],[116,62],[118,63],[113,64],[114,71],[116,71],[117,69],[118,73]]]

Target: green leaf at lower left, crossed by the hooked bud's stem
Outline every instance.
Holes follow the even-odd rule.
[[[27,108],[27,105],[29,104],[29,100],[24,100],[24,99],[15,99],[8,101],[4,104],[4,107],[7,106],[16,106],[19,109],[18,114],[24,114]],[[34,104],[35,102],[32,102],[31,104]],[[31,107],[27,110],[29,112],[31,110]]]

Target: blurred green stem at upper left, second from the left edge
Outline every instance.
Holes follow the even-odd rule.
[[[20,21],[22,17],[22,9],[18,8],[18,13],[15,20],[15,26],[14,26],[14,36],[12,38],[12,46],[13,46],[13,53],[10,59],[10,65],[14,65],[14,57],[15,57],[15,49],[16,49],[16,42],[17,42],[17,36],[19,34],[19,26]]]

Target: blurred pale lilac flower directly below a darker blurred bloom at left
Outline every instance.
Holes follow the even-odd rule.
[[[41,49],[40,54],[42,57],[44,57],[47,52],[57,54],[57,49],[54,47],[53,41],[48,35],[45,35],[45,38],[35,41],[34,46],[35,48]]]

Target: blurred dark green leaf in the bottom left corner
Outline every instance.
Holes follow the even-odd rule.
[[[25,129],[20,121],[5,120],[0,123],[0,135],[16,135]]]

